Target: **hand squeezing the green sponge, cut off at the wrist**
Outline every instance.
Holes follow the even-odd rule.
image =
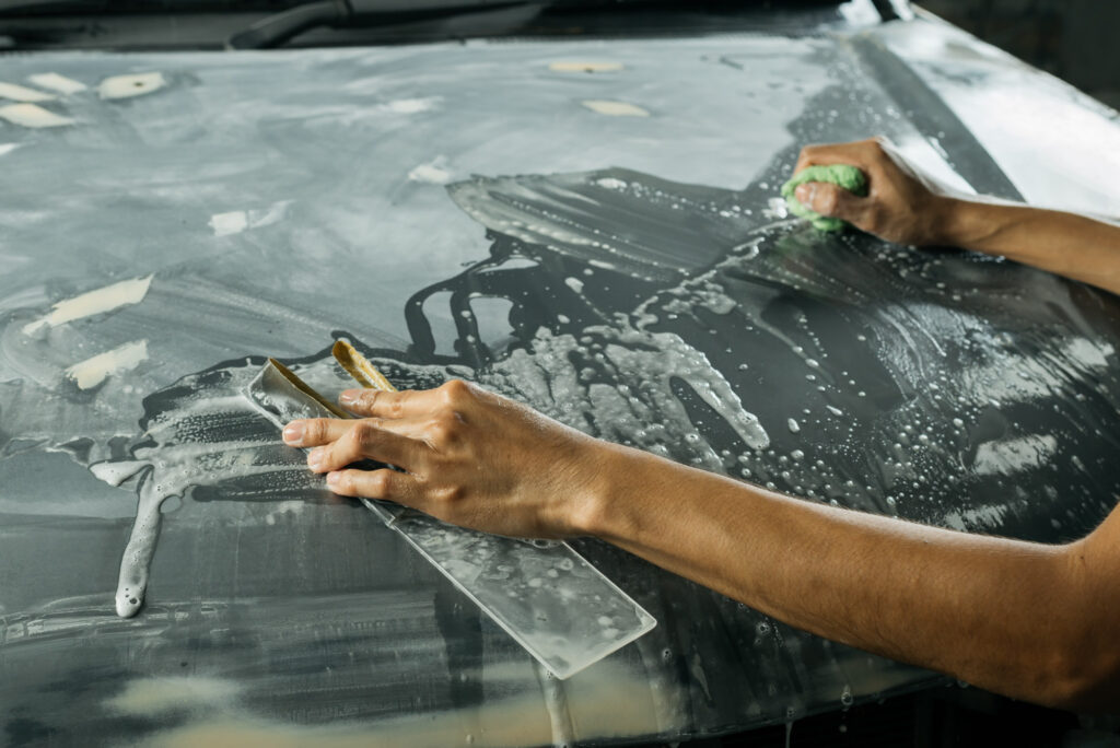
[[[857,228],[889,242],[917,246],[944,241],[943,225],[952,198],[915,174],[884,138],[832,146],[806,146],[794,174],[810,166],[850,163],[867,176],[868,195],[819,181],[805,183],[794,193],[822,216],[843,218]]]

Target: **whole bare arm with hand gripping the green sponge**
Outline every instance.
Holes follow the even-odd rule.
[[[911,171],[880,139],[809,146],[796,171],[827,163],[862,169],[870,194],[857,197],[834,185],[802,185],[797,199],[822,215],[893,242],[999,254],[1120,293],[1120,226],[1060,211],[946,195]]]

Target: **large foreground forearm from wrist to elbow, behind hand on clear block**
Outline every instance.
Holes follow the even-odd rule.
[[[613,449],[587,530],[799,628],[1066,703],[1083,621],[1056,546],[793,499]]]

